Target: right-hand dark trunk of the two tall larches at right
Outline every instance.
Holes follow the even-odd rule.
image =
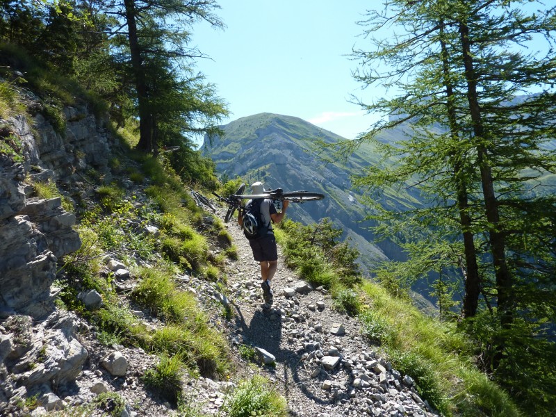
[[[477,77],[473,67],[471,45],[469,42],[469,28],[463,22],[459,24],[459,35],[464,58],[465,76],[467,81],[467,99],[473,133],[475,138],[484,138],[479,101],[477,99]],[[498,311],[502,327],[508,327],[513,321],[512,309],[512,277],[507,268],[505,256],[505,236],[500,229],[500,216],[498,202],[494,192],[491,166],[489,165],[486,147],[477,145],[477,160],[481,173],[481,185],[484,199],[486,219],[489,221],[489,240],[493,256],[494,274],[496,277],[496,290],[498,292]]]

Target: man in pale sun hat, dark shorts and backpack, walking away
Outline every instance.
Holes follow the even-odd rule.
[[[252,194],[263,194],[264,192],[263,183],[256,182],[252,184]],[[248,239],[254,259],[261,265],[261,288],[263,288],[263,298],[268,304],[272,304],[270,284],[278,268],[278,251],[274,232],[272,231],[272,223],[281,222],[284,215],[286,215],[288,204],[288,200],[285,199],[281,212],[278,213],[272,199],[250,199],[245,204],[245,211],[239,210],[238,214],[238,223],[243,229],[258,228],[256,231],[252,230],[252,234],[256,235],[256,237]],[[259,218],[256,218],[257,214]],[[252,216],[256,218],[256,222],[252,222]]]

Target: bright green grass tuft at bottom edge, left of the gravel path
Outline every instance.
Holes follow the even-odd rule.
[[[229,417],[286,417],[286,400],[259,375],[238,385],[222,406]]]

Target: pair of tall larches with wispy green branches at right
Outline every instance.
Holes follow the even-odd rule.
[[[525,13],[525,3],[540,10]],[[555,352],[546,332],[556,318],[556,9],[393,0],[361,24],[374,49],[354,51],[361,64],[354,76],[394,94],[357,100],[389,116],[345,145],[375,141],[384,152],[384,165],[369,167],[358,185],[377,193],[418,188],[425,202],[397,212],[373,206],[378,231],[410,256],[393,270],[456,277],[459,267],[464,317],[483,320],[474,329],[485,366],[517,395],[532,391],[539,383],[526,377],[526,362],[532,352]],[[406,136],[375,140],[396,126]],[[547,378],[543,384],[554,386],[553,373]]]

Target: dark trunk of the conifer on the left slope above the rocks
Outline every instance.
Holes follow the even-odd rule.
[[[131,66],[135,75],[137,101],[139,111],[139,143],[138,149],[152,152],[155,145],[152,138],[152,120],[149,110],[149,95],[145,71],[142,67],[141,49],[137,35],[136,10],[134,0],[124,0],[126,8],[126,22],[128,28],[129,51],[131,52]]]

